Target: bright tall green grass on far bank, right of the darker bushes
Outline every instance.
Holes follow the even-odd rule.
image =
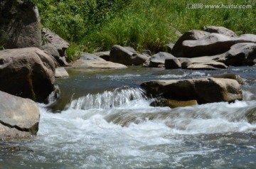
[[[252,9],[187,9],[186,4],[250,4]],[[88,33],[82,44],[89,52],[110,50],[112,45],[129,45],[156,53],[178,39],[174,29],[184,33],[203,26],[225,26],[238,34],[256,33],[256,1],[131,0],[102,27]]]

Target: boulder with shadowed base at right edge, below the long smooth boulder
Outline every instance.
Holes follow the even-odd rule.
[[[255,65],[256,63],[256,43],[238,43],[228,50],[223,58],[219,59],[226,65],[241,66]]]

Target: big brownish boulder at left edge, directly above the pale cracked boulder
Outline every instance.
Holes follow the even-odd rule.
[[[46,102],[53,92],[55,65],[38,48],[0,51],[0,90],[19,97]]]

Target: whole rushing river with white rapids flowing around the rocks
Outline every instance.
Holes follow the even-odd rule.
[[[68,70],[59,99],[38,104],[38,136],[2,143],[0,168],[255,168],[256,67],[228,70]],[[150,107],[139,84],[235,73],[243,100]],[[180,91],[182,92],[182,91]],[[55,94],[56,95],[56,94]]]

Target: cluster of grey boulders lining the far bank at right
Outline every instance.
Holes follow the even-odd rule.
[[[228,66],[255,65],[256,35],[237,36],[221,26],[206,26],[204,31],[192,30],[175,44],[168,44],[168,53],[151,55],[137,53],[132,48],[114,45],[105,60],[123,65],[166,67],[166,69],[218,70]]]

